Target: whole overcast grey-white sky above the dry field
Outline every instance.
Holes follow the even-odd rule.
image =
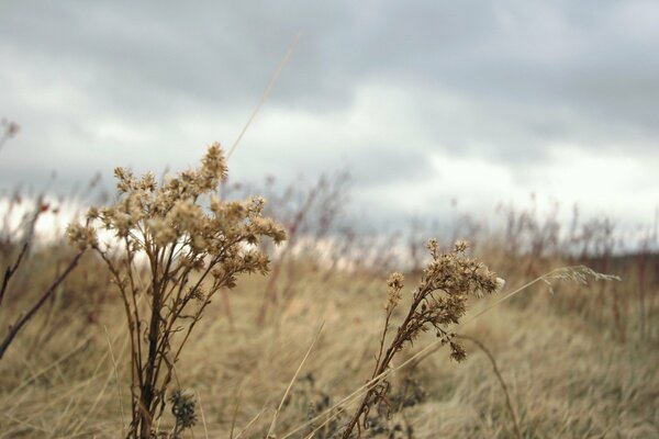
[[[0,185],[194,166],[234,180],[348,168],[354,211],[403,221],[574,202],[659,205],[657,1],[0,2]]]

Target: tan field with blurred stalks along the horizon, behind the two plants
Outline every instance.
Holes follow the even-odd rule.
[[[384,368],[393,373],[369,387],[386,309],[391,320],[384,347],[412,306],[421,269],[431,258],[416,251],[407,259],[393,255],[394,237],[388,246],[346,235],[332,256],[304,247],[331,236],[327,223],[336,209],[327,206],[335,201],[340,207],[343,201],[327,182],[302,193],[298,204],[269,196],[264,215],[280,222],[289,239],[277,251],[263,244],[272,258],[269,274],[245,273],[235,288],[220,285],[200,319],[178,316],[181,327],[194,322],[194,328],[168,368],[167,393],[155,405],[149,428],[157,437],[342,437],[369,389],[368,408],[351,437],[659,437],[657,256],[618,257],[587,243],[592,234],[571,244],[584,251],[570,252],[566,241],[544,235],[546,229],[530,221],[489,235],[459,236],[472,241],[470,255],[505,280],[496,293],[470,295],[459,324],[442,326],[467,358],[451,359],[435,329],[420,331]],[[34,218],[45,209],[37,205]],[[511,224],[521,217],[511,214]],[[3,230],[2,269],[11,271],[31,237],[30,224]],[[450,250],[447,237],[437,238],[443,250]],[[535,245],[524,244],[529,241]],[[3,286],[0,339],[76,255],[64,233],[47,245],[31,243]],[[540,280],[502,301],[545,273],[581,263],[622,280],[552,279],[550,285]],[[148,286],[153,272],[146,260],[135,260],[131,270],[147,285],[135,290],[139,319],[147,322],[155,303]],[[388,286],[392,271],[404,273],[405,285],[398,306],[386,308],[395,296]],[[198,279],[191,271],[189,281]],[[134,389],[131,396],[135,340],[121,297],[99,252],[83,252],[0,359],[1,438],[131,436],[139,394]],[[166,313],[167,305],[161,309]],[[146,328],[135,337],[144,346],[149,341]],[[180,341],[181,334],[175,330],[171,337]],[[177,390],[182,391],[179,405],[170,399]]]

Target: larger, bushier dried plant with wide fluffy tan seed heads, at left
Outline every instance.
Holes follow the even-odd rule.
[[[103,259],[123,301],[131,336],[129,438],[156,434],[174,367],[213,295],[233,289],[238,274],[265,274],[269,259],[259,250],[261,238],[276,244],[286,238],[279,224],[263,216],[261,198],[217,198],[226,171],[219,144],[208,149],[199,169],[161,184],[153,173],[136,179],[116,168],[116,203],[90,209],[85,225],[72,224],[67,230],[72,243]],[[101,245],[98,229],[112,232],[115,239]],[[147,282],[138,257],[145,259]],[[148,307],[141,305],[142,297]],[[194,420],[188,408],[186,419],[179,423],[177,417],[177,435],[178,426]]]

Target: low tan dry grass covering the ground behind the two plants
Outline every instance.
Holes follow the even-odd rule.
[[[1,320],[13,320],[70,254],[59,247],[35,251],[8,291]],[[3,263],[13,256],[8,252]],[[493,261],[507,284],[498,295],[471,301],[466,320],[536,272],[571,262],[513,259],[491,250],[481,257]],[[263,323],[258,314],[272,286],[267,278],[245,278],[209,307],[176,365],[177,387],[192,392],[197,401],[198,423],[186,437],[263,438],[323,323],[278,414],[275,437],[305,437],[327,420],[316,416],[370,378],[388,273],[327,271],[309,260],[287,261],[281,272],[294,279],[280,275],[279,288],[268,293]],[[523,437],[659,435],[657,284],[643,281],[641,307],[634,266],[616,270],[623,275],[619,283],[585,288],[558,282],[552,295],[546,285],[535,285],[460,328],[495,360]],[[407,277],[412,284],[415,274]],[[16,337],[0,361],[0,437],[122,437],[130,416],[127,331],[108,281],[99,261],[86,255]],[[424,335],[396,361],[434,340],[433,334]],[[466,340],[465,346],[468,358],[462,363],[440,348],[394,374],[389,409],[373,408],[371,428],[362,435],[514,437],[491,360],[473,342]],[[168,408],[160,419],[163,430],[172,425]],[[350,408],[349,403],[334,407],[331,414],[337,416],[315,437],[332,437]]]

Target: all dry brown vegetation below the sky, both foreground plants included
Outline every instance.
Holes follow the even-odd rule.
[[[608,223],[566,234],[502,210],[503,229],[465,236],[471,254],[450,236],[424,259],[433,230],[357,236],[335,221],[343,187],[321,181],[270,194],[290,237],[276,250],[259,244],[283,237],[261,202],[204,204],[216,154],[176,184],[120,171],[116,203],[69,230],[93,251],[21,252],[43,203],[3,230],[0,322],[30,318],[0,361],[0,437],[659,435],[656,236],[623,258]],[[276,275],[234,279],[266,255]],[[505,279],[499,294],[476,297],[502,286],[476,257]],[[417,289],[387,281],[396,266]]]

